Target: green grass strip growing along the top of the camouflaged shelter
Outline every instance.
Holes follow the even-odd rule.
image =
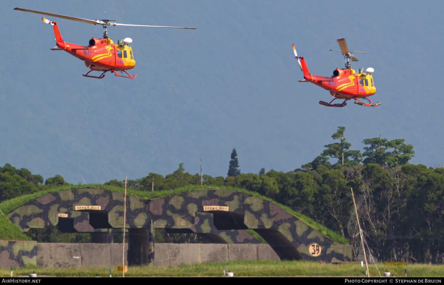
[[[66,189],[75,189],[75,188],[95,188],[95,187],[101,187],[104,189],[112,189],[115,191],[119,191],[119,192],[124,192],[124,188],[123,187],[114,187],[114,186],[108,186],[108,185],[102,185],[102,184],[87,184],[87,185],[82,185],[82,186],[75,186],[75,187],[65,187],[65,188],[52,188],[49,190],[45,190],[45,191],[40,191],[40,192],[36,192],[36,193],[32,193],[32,194],[28,194],[28,195],[23,195],[20,197],[16,197],[10,200],[6,200],[0,203],[0,211],[2,211],[5,215],[8,214],[9,212],[11,212],[12,210],[34,200],[37,199],[38,197],[41,197],[43,195],[49,194],[49,193],[53,193],[53,192],[58,192],[61,190],[66,190]],[[200,185],[189,185],[186,187],[182,187],[182,188],[178,188],[178,189],[173,189],[173,190],[164,190],[164,191],[155,191],[155,192],[151,192],[151,191],[139,191],[139,190],[135,190],[135,189],[131,189],[128,188],[127,189],[127,193],[129,195],[133,195],[139,198],[143,198],[143,199],[149,199],[150,197],[153,197],[154,199],[161,199],[161,198],[166,198],[169,197],[171,195],[175,195],[175,194],[179,194],[179,193],[185,193],[188,191],[194,191],[197,189],[208,189],[208,188],[218,188],[218,189],[227,189],[227,190],[233,190],[233,191],[239,191],[239,192],[243,192],[249,195],[254,195],[257,196],[261,199],[273,202],[275,204],[277,204],[278,206],[282,207],[283,209],[285,209],[285,211],[288,211],[289,213],[291,213],[292,215],[294,215],[296,218],[300,219],[302,222],[306,223],[307,225],[309,225],[310,227],[312,227],[313,229],[321,232],[322,234],[324,234],[326,237],[330,238],[331,240],[337,242],[337,243],[341,243],[341,244],[349,244],[349,241],[347,238],[344,238],[341,236],[341,234],[330,230],[329,228],[327,228],[326,226],[321,225],[320,223],[315,222],[313,219],[310,219],[309,217],[302,215],[300,212],[298,211],[294,211],[293,209],[286,207],[280,203],[277,203],[275,201],[273,201],[270,198],[267,198],[265,196],[259,195],[256,192],[252,192],[252,191],[248,191],[245,189],[239,189],[239,188],[234,188],[234,187],[223,187],[223,186],[219,186],[219,187],[212,187],[210,185],[205,185],[205,186],[200,186]],[[2,215],[0,213],[0,215]],[[3,217],[0,218],[0,220]],[[7,219],[6,219],[7,220]],[[15,225],[12,225],[14,227],[16,227]],[[17,228],[18,230],[18,228]],[[19,230],[20,231],[20,230]],[[14,233],[16,231],[13,231]],[[9,234],[7,233],[5,230],[3,230],[2,227],[0,227],[0,240],[24,240],[23,235],[20,234]]]

